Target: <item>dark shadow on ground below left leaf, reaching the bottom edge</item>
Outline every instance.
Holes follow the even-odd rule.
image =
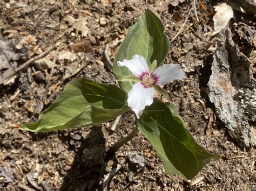
[[[105,138],[102,127],[94,126],[83,140],[61,190],[95,190],[104,172]]]

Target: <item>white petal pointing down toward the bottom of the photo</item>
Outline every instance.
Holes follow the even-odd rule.
[[[146,105],[153,103],[154,88],[145,87],[142,82],[133,84],[128,93],[128,106],[135,112],[139,119]]]

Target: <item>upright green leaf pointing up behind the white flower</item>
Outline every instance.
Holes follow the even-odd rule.
[[[149,66],[154,60],[157,60],[158,66],[160,66],[163,64],[169,49],[170,43],[164,34],[163,24],[148,9],[139,17],[137,23],[129,27],[114,58],[113,73],[117,79],[132,75],[128,68],[117,66],[117,61],[130,60],[134,54],[143,56]],[[133,82],[120,82],[119,84],[128,92],[132,88]]]

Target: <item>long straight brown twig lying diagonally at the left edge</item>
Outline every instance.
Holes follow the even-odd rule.
[[[51,52],[53,49],[55,49],[57,46],[59,46],[60,43],[56,43],[54,45],[51,45],[48,49],[46,49],[42,54],[39,54],[31,59],[29,59],[28,61],[26,61],[25,63],[23,63],[23,65],[19,66],[17,69],[15,69],[14,71],[12,71],[8,76],[6,76],[2,81],[0,81],[0,84],[9,81],[12,77],[14,77],[19,71],[23,70],[24,68],[28,67],[29,65],[31,65],[31,63],[35,62],[38,59],[43,58],[45,55],[47,55],[49,52]]]

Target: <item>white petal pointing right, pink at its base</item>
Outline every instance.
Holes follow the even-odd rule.
[[[186,78],[185,72],[181,70],[178,63],[171,63],[158,67],[151,74],[152,78],[156,79],[155,84],[164,85],[173,80],[183,80]]]

